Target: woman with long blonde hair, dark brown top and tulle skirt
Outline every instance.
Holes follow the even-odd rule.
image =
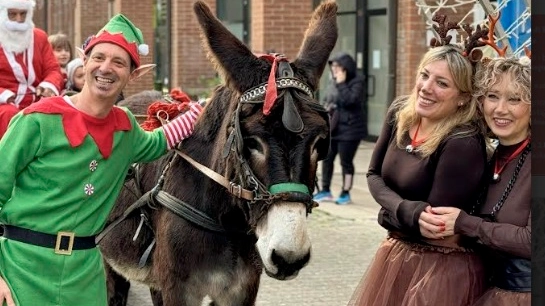
[[[472,99],[473,64],[462,51],[450,44],[427,51],[411,94],[388,110],[367,172],[388,236],[351,305],[467,306],[485,289],[470,242],[430,238],[419,225],[430,206],[469,211],[484,185],[485,128]]]

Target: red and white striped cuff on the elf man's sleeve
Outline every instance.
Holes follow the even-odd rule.
[[[199,103],[191,103],[189,110],[163,126],[170,150],[193,133],[193,125],[202,112]]]

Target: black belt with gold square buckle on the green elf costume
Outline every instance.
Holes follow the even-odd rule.
[[[4,224],[3,227],[4,237],[55,249],[56,254],[70,255],[72,250],[86,250],[96,247],[95,236],[76,237],[73,232],[58,232],[57,235],[52,235],[13,225]]]

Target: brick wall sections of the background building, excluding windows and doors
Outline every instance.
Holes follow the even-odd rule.
[[[181,87],[198,95],[209,90],[216,73],[206,58],[200,40],[200,30],[193,13],[194,0],[170,0],[171,28],[171,79],[170,87]],[[354,0],[357,1],[357,0]],[[455,0],[449,0],[454,2]],[[155,0],[49,0],[47,14],[45,0],[37,0],[34,23],[49,33],[58,31],[73,37],[74,45],[81,45],[88,35],[96,33],[108,21],[110,14],[122,12],[142,31],[150,46],[150,55],[143,63],[153,59],[153,12]],[[206,0],[216,11],[216,1]],[[275,51],[294,59],[299,50],[304,31],[312,13],[311,0],[252,0],[250,12],[251,50],[256,53]],[[458,10],[459,16],[471,9]],[[111,11],[110,11],[111,10]],[[418,62],[428,49],[425,22],[414,0],[399,0],[397,24],[396,95],[407,94],[414,86]],[[456,14],[448,12],[452,20]],[[47,19],[47,21],[46,21]],[[459,19],[459,18],[458,18]],[[153,88],[154,73],[148,73],[130,84],[125,94]]]

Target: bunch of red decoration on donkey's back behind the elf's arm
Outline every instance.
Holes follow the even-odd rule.
[[[191,99],[181,89],[172,89],[170,97],[173,99],[173,103],[160,100],[154,101],[148,106],[148,117],[140,124],[144,130],[154,130],[163,125],[162,121],[170,121],[189,110]]]

